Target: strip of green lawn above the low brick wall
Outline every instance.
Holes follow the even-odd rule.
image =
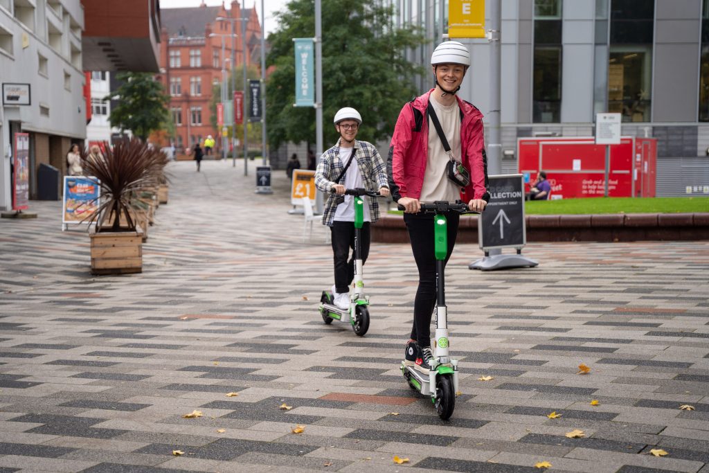
[[[709,197],[595,197],[525,202],[527,215],[709,212]],[[403,213],[390,211],[389,213]]]

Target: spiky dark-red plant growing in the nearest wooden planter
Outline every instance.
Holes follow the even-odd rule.
[[[101,187],[99,206],[87,220],[96,223],[96,231],[135,231],[133,215],[140,206],[137,196],[140,189],[157,185],[167,157],[160,150],[148,148],[137,138],[128,143],[118,143],[111,150],[106,146],[104,159],[91,159],[82,155],[84,174],[96,177]],[[121,216],[125,224],[121,226]],[[111,222],[110,226],[104,223]]]

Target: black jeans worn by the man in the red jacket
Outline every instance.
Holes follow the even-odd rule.
[[[448,252],[445,263],[450,260],[450,255],[455,246],[458,235],[460,215],[447,213],[448,222]],[[406,223],[408,238],[411,240],[413,259],[418,267],[418,290],[413,303],[413,328],[411,339],[416,340],[420,347],[431,346],[431,316],[436,305],[436,258],[434,255],[433,216],[404,213],[403,221]]]

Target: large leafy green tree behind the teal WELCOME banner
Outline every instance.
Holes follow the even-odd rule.
[[[332,123],[344,106],[357,108],[362,127],[357,138],[379,140],[393,133],[406,101],[417,95],[413,77],[423,72],[404,52],[423,44],[409,26],[394,28],[393,7],[376,0],[323,1],[323,138],[335,143]],[[279,30],[269,35],[268,63],[275,70],[267,82],[268,139],[272,148],[287,141],[316,141],[314,108],[294,107],[293,38],[315,35],[313,0],[291,0],[277,13]]]

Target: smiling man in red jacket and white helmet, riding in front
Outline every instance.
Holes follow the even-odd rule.
[[[423,373],[435,368],[430,323],[436,301],[436,270],[433,216],[418,214],[420,202],[463,199],[471,211],[481,212],[490,199],[483,115],[472,104],[456,96],[470,67],[470,53],[462,43],[446,41],[433,51],[431,67],[435,88],[401,109],[391,138],[387,166],[391,196],[405,208],[404,222],[419,277],[413,328],[406,344],[404,362]],[[432,124],[434,113],[445,135],[445,144]],[[446,167],[450,160],[469,170],[467,186],[461,188],[448,179]],[[445,262],[455,245],[459,214],[450,213],[447,221]]]

